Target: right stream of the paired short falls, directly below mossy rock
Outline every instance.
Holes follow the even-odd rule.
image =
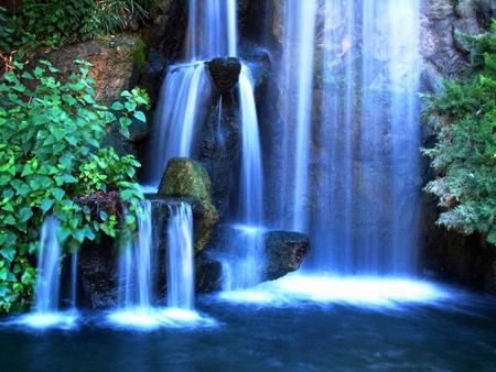
[[[168,306],[194,308],[193,212],[187,203],[170,203],[168,227]]]

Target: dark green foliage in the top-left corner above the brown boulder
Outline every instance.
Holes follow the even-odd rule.
[[[18,61],[39,47],[121,32],[148,18],[148,0],[24,0],[14,15],[0,8],[0,55]]]

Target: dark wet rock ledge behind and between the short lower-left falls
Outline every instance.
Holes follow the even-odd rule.
[[[155,227],[154,240],[154,273],[157,274],[157,305],[166,303],[166,251],[169,205],[184,201],[192,206],[194,237],[202,237],[202,221],[205,210],[200,200],[193,197],[164,198],[148,195],[152,204],[152,223]],[[101,207],[101,198],[86,198],[86,205],[91,210]],[[103,210],[101,208],[98,210]],[[87,243],[79,252],[78,262],[78,306],[91,309],[112,308],[118,305],[118,265],[119,250],[112,239],[101,237],[98,243]],[[220,263],[206,258],[203,253],[195,255],[195,291],[208,293],[219,288],[222,280]]]

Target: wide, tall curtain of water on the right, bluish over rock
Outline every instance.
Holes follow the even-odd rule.
[[[280,227],[311,236],[306,269],[416,271],[419,3],[285,2],[274,200]]]

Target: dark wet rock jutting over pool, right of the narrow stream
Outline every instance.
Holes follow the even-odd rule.
[[[300,269],[310,250],[309,237],[299,232],[270,231],[266,233],[267,281],[277,280]]]

